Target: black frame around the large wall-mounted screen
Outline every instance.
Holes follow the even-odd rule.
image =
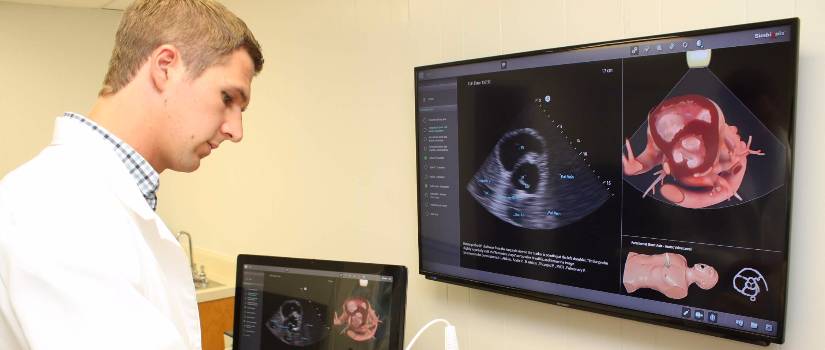
[[[606,46],[614,46],[614,45],[627,45],[636,42],[643,42],[643,41],[650,41],[650,40],[663,40],[663,39],[673,39],[673,38],[680,38],[680,37],[691,37],[691,36],[701,36],[701,35],[708,35],[708,34],[717,34],[717,33],[725,33],[725,32],[733,32],[733,31],[742,31],[742,30],[749,30],[749,29],[757,29],[763,27],[772,27],[772,26],[790,26],[792,35],[790,42],[793,45],[793,67],[789,67],[792,74],[796,77],[793,80],[792,86],[789,86],[791,95],[793,96],[794,103],[791,105],[790,111],[790,120],[789,120],[789,129],[788,129],[788,143],[790,145],[790,149],[788,150],[788,162],[786,165],[786,174],[788,174],[787,185],[789,188],[789,196],[787,205],[787,237],[785,241],[786,246],[786,254],[784,257],[784,268],[785,268],[785,275],[786,275],[786,283],[784,286],[784,304],[782,305],[782,317],[780,320],[777,320],[779,323],[779,327],[777,330],[776,336],[767,336],[767,335],[760,335],[756,333],[740,331],[736,329],[720,327],[720,326],[712,326],[710,324],[698,323],[689,320],[677,319],[668,316],[662,316],[658,314],[642,312],[633,309],[627,309],[622,307],[617,307],[608,304],[600,304],[594,303],[590,301],[580,300],[580,299],[572,299],[567,297],[562,297],[555,294],[547,294],[547,293],[539,293],[532,290],[526,290],[521,288],[510,287],[506,285],[494,284],[485,281],[478,281],[472,280],[469,278],[464,278],[461,276],[454,276],[444,273],[439,273],[436,271],[427,270],[424,267],[423,260],[422,260],[422,242],[421,242],[421,226],[422,226],[422,217],[421,217],[421,178],[420,176],[416,176],[416,184],[417,184],[417,213],[418,213],[418,266],[419,266],[419,273],[423,275],[425,278],[446,282],[471,288],[477,288],[481,290],[491,291],[495,293],[500,293],[509,296],[521,297],[531,300],[536,300],[540,302],[555,304],[563,307],[571,307],[575,309],[591,311],[600,314],[611,315],[620,318],[626,318],[636,321],[647,322],[651,324],[721,337],[727,339],[733,339],[737,341],[743,341],[747,343],[753,343],[758,345],[767,346],[770,343],[778,343],[782,344],[785,341],[785,325],[787,319],[787,295],[788,295],[788,271],[789,271],[789,260],[790,260],[790,236],[791,236],[791,203],[793,198],[793,150],[795,149],[795,137],[794,137],[794,129],[796,123],[796,98],[797,98],[797,81],[798,81],[798,70],[799,70],[799,26],[800,20],[799,18],[786,18],[780,20],[772,20],[772,21],[765,21],[765,22],[754,22],[754,23],[747,23],[747,24],[739,24],[739,25],[732,25],[732,26],[724,26],[724,27],[716,27],[716,28],[707,28],[707,29],[699,29],[699,30],[690,30],[690,31],[683,31],[683,32],[674,32],[669,34],[661,34],[661,35],[650,35],[650,36],[642,36],[642,37],[635,37],[635,38],[628,38],[628,39],[620,39],[620,40],[611,40],[611,41],[603,41],[597,43],[590,43],[590,44],[582,44],[582,45],[571,45],[571,46],[564,46],[558,48],[551,48],[551,49],[542,49],[542,50],[533,50],[533,51],[526,51],[526,52],[519,52],[519,53],[512,53],[512,54],[505,54],[505,55],[497,55],[497,56],[489,56],[489,57],[482,57],[482,58],[475,58],[475,59],[468,59],[468,60],[460,60],[454,62],[445,62],[445,63],[438,63],[438,64],[431,64],[425,66],[418,66],[415,67],[413,70],[413,91],[415,94],[415,116],[413,122],[415,123],[415,134],[416,134],[416,174],[420,174],[421,172],[421,157],[419,155],[420,152],[420,140],[421,140],[421,130],[419,123],[416,122],[418,115],[418,108],[419,108],[419,94],[417,88],[417,79],[419,76],[419,72],[423,70],[429,70],[434,68],[442,68],[442,67],[450,67],[450,66],[457,66],[457,65],[464,65],[464,64],[471,64],[471,63],[480,63],[480,62],[490,62],[490,61],[500,61],[506,59],[513,59],[518,57],[527,57],[527,56],[535,56],[535,55],[544,55],[550,53],[560,53],[560,52],[568,52],[568,51],[575,51],[575,50],[582,50],[582,49],[590,49],[590,48],[598,48],[598,47],[606,47]]]

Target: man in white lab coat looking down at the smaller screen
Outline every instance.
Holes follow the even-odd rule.
[[[158,177],[243,137],[261,49],[210,0],[124,13],[87,115],[0,182],[0,349],[200,349],[189,265]],[[71,82],[66,83],[71,88]]]

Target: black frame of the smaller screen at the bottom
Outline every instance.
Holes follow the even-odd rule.
[[[243,295],[243,266],[262,265],[289,267],[308,270],[324,270],[332,272],[346,272],[355,274],[372,274],[382,276],[392,276],[392,301],[390,317],[395,325],[390,327],[390,349],[401,350],[404,346],[404,317],[407,308],[407,267],[402,265],[373,264],[352,261],[318,260],[293,257],[277,257],[263,255],[238,255],[235,267],[235,308],[232,334],[237,337],[240,334],[240,310],[242,310],[241,298]],[[400,305],[400,307],[395,307]],[[232,342],[232,349],[239,350],[240,342],[236,339]]]

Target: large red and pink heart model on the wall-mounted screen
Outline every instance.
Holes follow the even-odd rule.
[[[736,197],[742,185],[749,155],[764,155],[751,150],[736,126],[725,122],[725,115],[711,99],[701,95],[682,95],[662,101],[648,114],[647,146],[638,156],[630,141],[622,156],[625,175],[639,175],[661,164],[658,177],[643,197],[654,191],[685,208],[705,208]],[[668,176],[673,181],[665,180]]]

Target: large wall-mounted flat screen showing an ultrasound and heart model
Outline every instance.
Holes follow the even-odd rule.
[[[415,68],[421,273],[782,343],[798,26]]]

